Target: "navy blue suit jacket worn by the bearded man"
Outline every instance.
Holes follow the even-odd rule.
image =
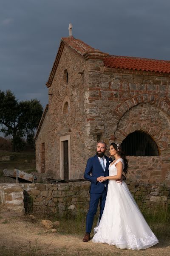
[[[90,193],[102,193],[105,187],[106,189],[108,189],[108,180],[104,182],[97,181],[97,178],[100,176],[109,176],[108,168],[110,163],[113,162],[113,160],[106,156],[105,158],[106,158],[105,172],[103,171],[102,165],[99,162],[99,158],[97,155],[88,159],[88,162],[85,168],[84,178],[86,180],[91,181]]]

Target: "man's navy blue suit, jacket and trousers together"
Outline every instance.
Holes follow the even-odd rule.
[[[100,217],[102,217],[102,213],[105,207],[106,195],[108,191],[108,180],[105,182],[98,182],[97,178],[100,176],[109,176],[109,164],[113,162],[113,160],[109,157],[106,157],[106,166],[105,172],[103,171],[102,165],[99,161],[97,155],[88,159],[84,178],[86,180],[91,181],[90,186],[90,204],[89,210],[86,217],[86,233],[91,233],[91,229],[93,226],[94,215],[96,214],[97,207],[100,201]]]

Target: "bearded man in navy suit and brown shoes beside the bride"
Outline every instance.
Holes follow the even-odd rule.
[[[91,237],[91,229],[93,226],[94,215],[96,214],[98,204],[100,202],[100,217],[102,217],[102,213],[105,207],[106,195],[108,190],[108,180],[104,182],[99,182],[101,176],[109,176],[108,167],[113,160],[107,156],[105,156],[106,151],[106,143],[100,141],[97,143],[97,151],[94,157],[88,159],[84,178],[86,180],[91,181],[90,186],[90,204],[89,210],[86,217],[86,233],[82,241],[88,242]],[[121,182],[121,180],[119,181]]]

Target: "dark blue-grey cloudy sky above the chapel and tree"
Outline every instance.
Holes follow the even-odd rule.
[[[170,0],[0,0],[0,90],[44,107],[69,23],[103,52],[170,60]]]

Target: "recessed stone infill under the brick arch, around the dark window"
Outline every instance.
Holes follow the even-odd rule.
[[[124,109],[117,122],[116,141],[122,143],[127,135],[134,131],[149,134],[158,145],[160,156],[127,156],[127,177],[143,183],[170,184],[170,116],[167,111],[153,102],[134,104],[128,110]]]

